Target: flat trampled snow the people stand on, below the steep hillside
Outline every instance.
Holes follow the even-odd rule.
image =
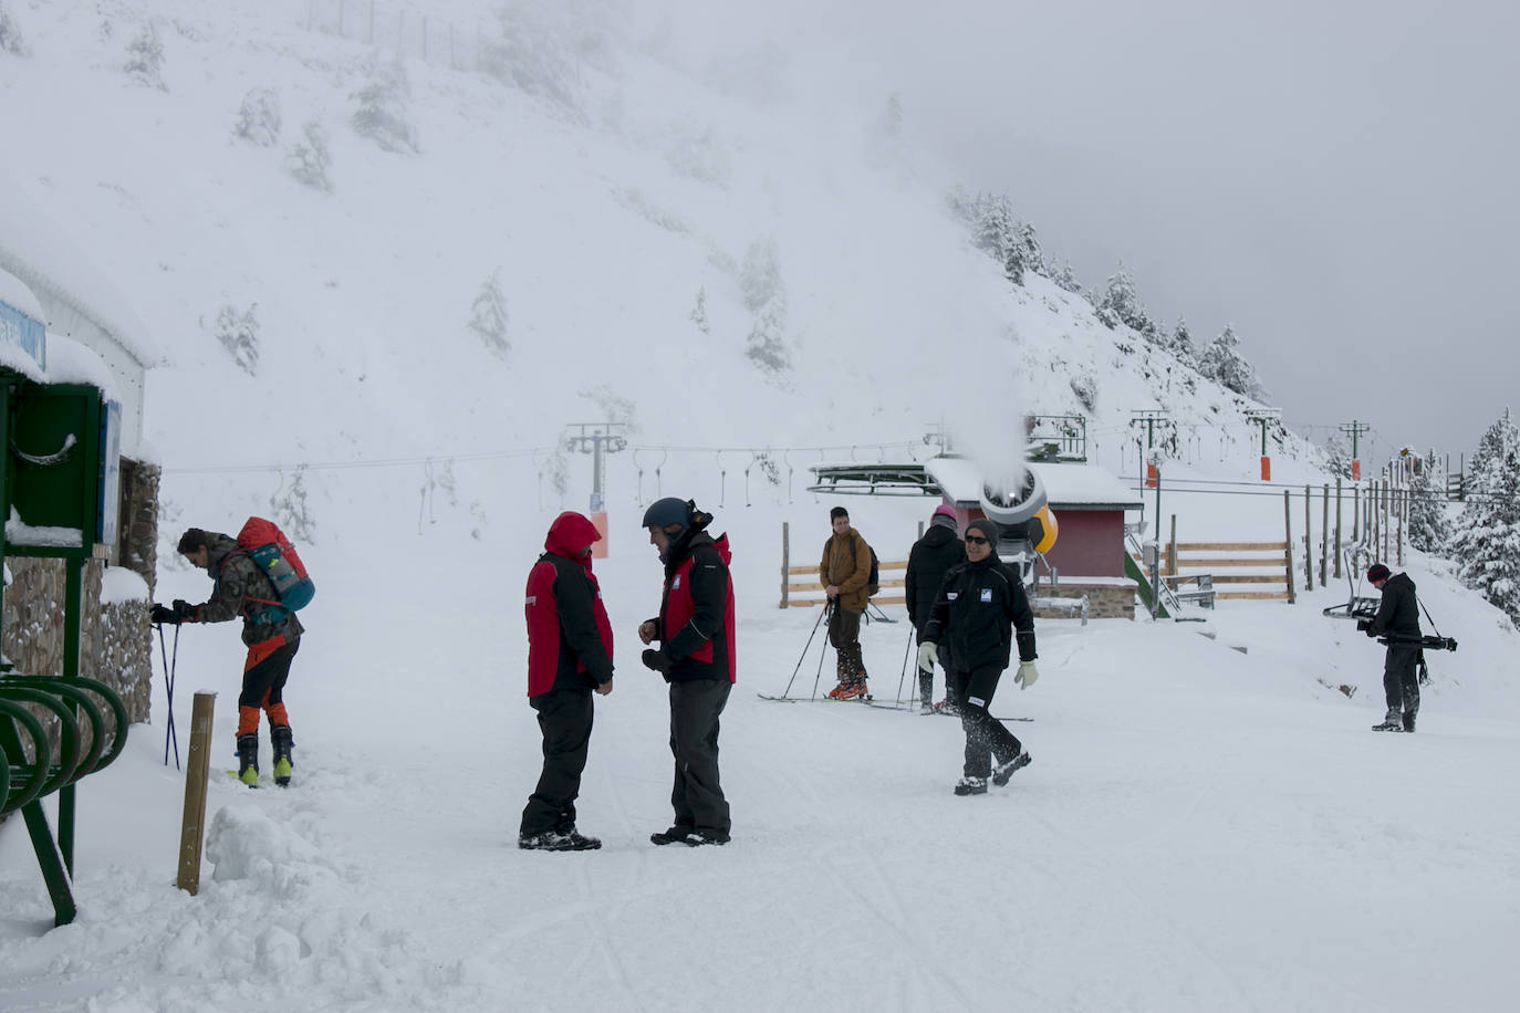
[[[793,544],[821,544],[825,506],[793,507],[812,535]],[[917,503],[869,506],[879,544],[912,538]],[[49,931],[27,841],[0,832],[0,1007],[1506,1008],[1514,635],[1449,580],[1411,566],[1461,641],[1432,655],[1412,737],[1368,731],[1382,652],[1319,617],[1339,588],[1205,624],[1043,621],[1040,682],[994,702],[1029,718],[1012,727],[1035,762],[965,799],[958,721],[754,696],[793,671],[810,693],[819,661],[827,686],[833,659],[819,636],[798,668],[816,614],[775,607],[777,513],[719,512],[743,563],[722,735],[734,840],[657,849],[667,714],[632,629],[658,565],[623,516],[597,565],[617,680],[581,796],[602,850],[515,847],[538,764],[515,589],[532,547],[420,570],[406,629],[357,636],[342,617],[398,607],[377,553],[319,576],[287,693],[295,787],[213,781],[199,896],[173,887],[182,781],[163,765],[161,691],[81,784],[74,925]],[[497,566],[505,589],[485,579]],[[161,595],[201,592],[202,574],[175,573]],[[906,638],[866,630],[879,699],[897,696]],[[179,641],[181,747],[190,693],[216,691],[216,768],[234,641]]]

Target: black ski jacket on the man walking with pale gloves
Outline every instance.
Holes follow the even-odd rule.
[[[996,554],[952,566],[921,639],[948,642],[956,671],[1008,668],[1015,639],[1018,661],[1034,661],[1035,614],[1018,571]]]

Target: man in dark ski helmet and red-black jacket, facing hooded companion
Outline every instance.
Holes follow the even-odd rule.
[[[734,586],[728,536],[707,533],[711,513],[692,500],[666,497],[644,510],[649,544],[664,563],[660,615],[638,624],[638,639],[660,641],[643,653],[648,668],[670,683],[670,753],[675,823],[651,834],[655,844],[727,844],[728,800],[717,778],[717,717],[728,703],[734,661]]]

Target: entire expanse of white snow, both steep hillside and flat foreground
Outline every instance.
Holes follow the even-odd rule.
[[[816,639],[800,664],[816,615],[775,607],[781,524],[793,562],[827,535],[809,463],[921,457],[941,419],[996,436],[1073,410],[1091,374],[1097,463],[1134,472],[1131,412],[1164,402],[1192,448],[1169,475],[1256,472],[1225,393],[1126,354],[1041,279],[1011,290],[945,213],[953,181],[909,147],[883,161],[879,102],[714,88],[610,32],[572,61],[570,105],[409,61],[420,150],[403,155],[351,129],[374,53],[309,30],[319,3],[5,5],[32,50],[0,55],[0,128],[27,138],[5,200],[88,249],[163,351],[147,436],[166,541],[296,516],[319,594],[287,694],[298,784],[213,785],[198,898],[170,885],[182,781],[161,685],[128,753],[81,785],[73,926],[47,931],[29,843],[0,829],[0,1008],[1503,1007],[1515,635],[1439,562],[1409,570],[1462,649],[1432,659],[1412,738],[1365,731],[1380,652],[1319,617],[1344,586],[1222,607],[1216,639],[1043,623],[1040,683],[994,705],[1034,718],[1014,727],[1035,764],[983,799],[948,793],[953,721],[754,697],[833,664]],[[149,14],[163,90],[122,71]],[[231,135],[255,87],[280,93],[274,147]],[[310,120],[330,194],[287,172]],[[742,264],[765,241],[784,377],[743,357]],[[497,267],[505,357],[465,327]],[[254,375],[213,334],[228,305],[257,305]],[[581,825],[605,847],[524,855],[538,732],[518,588],[549,521],[587,501],[562,427],[608,418],[644,450],[608,462],[597,563],[619,679]],[[1274,465],[1324,481],[1307,457]],[[638,529],[658,494],[696,497],[736,545],[725,849],[646,843],[669,819],[663,685],[632,635],[658,604]],[[1164,494],[1181,532],[1281,538],[1280,491]],[[929,503],[850,507],[901,557]],[[204,598],[172,544],[161,559],[160,598]],[[894,697],[906,629],[866,638]],[[242,653],[226,627],[181,635],[176,724],[216,691],[217,764]]]

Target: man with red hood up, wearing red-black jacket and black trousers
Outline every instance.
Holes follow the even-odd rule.
[[[527,797],[517,846],[588,850],[575,828],[575,800],[591,743],[591,693],[613,691],[613,626],[591,574],[600,532],[565,510],[549,525],[544,554],[527,574],[527,703],[538,711],[544,768]]]

